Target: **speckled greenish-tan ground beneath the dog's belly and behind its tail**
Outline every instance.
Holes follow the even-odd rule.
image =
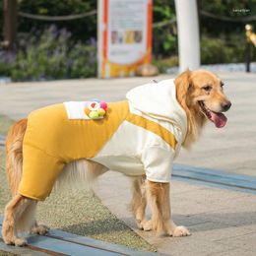
[[[6,135],[12,123],[9,118],[0,116],[0,134]],[[0,215],[3,215],[4,206],[10,200],[4,165],[5,153],[1,149]],[[47,200],[38,204],[37,220],[39,223],[52,228],[59,228],[139,250],[156,251],[156,248],[118,220],[92,192],[81,190],[53,192]],[[0,255],[2,255],[1,251]]]

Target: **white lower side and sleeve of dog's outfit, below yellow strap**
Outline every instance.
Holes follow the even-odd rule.
[[[180,145],[178,144],[176,150],[179,147]],[[155,148],[154,156],[156,160],[152,162],[153,166],[151,168],[150,158],[153,152],[147,152],[148,149],[153,148]],[[160,151],[158,152],[157,149],[160,149]],[[148,157],[146,157],[147,154],[149,155]],[[170,168],[172,167],[171,162],[166,160],[165,163],[161,163],[159,170],[157,170],[157,165],[155,166],[157,157],[160,161],[165,161],[167,155],[168,159],[172,160],[174,151],[160,136],[128,121],[124,121],[93,160],[107,166],[109,169],[127,175],[141,175],[144,173],[148,175],[145,172],[147,166],[152,180],[168,182]],[[147,158],[149,159],[147,160]],[[163,164],[169,165],[169,168],[167,166],[163,168]],[[164,171],[166,173],[163,173]],[[153,172],[156,173],[153,175]]]

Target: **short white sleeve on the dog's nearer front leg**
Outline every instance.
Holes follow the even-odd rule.
[[[174,159],[174,152],[158,146],[149,147],[142,154],[148,180],[169,182]]]

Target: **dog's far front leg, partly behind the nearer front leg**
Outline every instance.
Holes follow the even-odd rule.
[[[130,208],[138,227],[143,229],[143,224],[147,222],[145,219],[145,209],[147,206],[145,176],[134,179],[132,189],[133,198]]]

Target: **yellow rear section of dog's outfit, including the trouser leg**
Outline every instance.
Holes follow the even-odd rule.
[[[23,144],[19,193],[44,200],[65,163],[91,159],[112,137],[128,114],[128,102],[109,103],[103,119],[70,120],[64,104],[32,112]]]

